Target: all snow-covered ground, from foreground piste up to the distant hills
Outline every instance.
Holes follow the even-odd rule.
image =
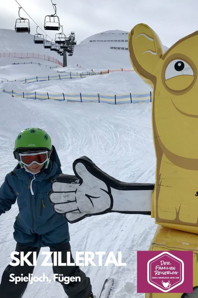
[[[15,32],[11,31],[0,31],[1,37],[4,36],[4,41],[0,44],[0,52],[14,50],[36,52],[34,46],[39,45],[33,44],[31,35],[17,33],[15,35]],[[102,39],[106,34],[101,34]],[[9,38],[6,39],[7,36]],[[81,63],[84,69],[90,69],[91,66],[97,69],[131,68],[129,60],[124,58],[124,55],[129,55],[128,52],[125,50],[116,52],[113,49],[107,51],[110,42],[108,46],[107,43],[83,41],[76,46],[74,56],[68,58],[70,69],[73,67],[76,70],[77,63]],[[42,67],[37,65],[12,66],[8,65],[11,64],[8,60],[0,59],[0,61],[0,77],[8,79],[54,73],[54,70],[45,67],[45,61]],[[67,69],[69,67],[65,70]],[[52,80],[30,84],[8,82],[0,85],[0,89],[3,88],[12,88],[16,91],[49,90],[54,92],[83,90],[85,93],[128,93],[150,90],[136,73],[124,72],[65,81]],[[63,173],[73,174],[72,162],[86,155],[116,179],[126,182],[155,182],[156,159],[152,136],[151,103],[110,105],[40,101],[12,98],[1,91],[0,100],[0,185],[5,175],[16,165],[12,153],[15,137],[19,131],[27,127],[41,127],[47,130],[60,157]],[[17,214],[18,206],[15,204],[9,212],[0,217],[0,278],[11,260],[10,253],[15,250],[16,243],[12,232]],[[115,254],[121,251],[122,261],[127,264],[126,267],[113,265],[81,267],[90,277],[96,296],[99,295],[104,279],[114,277],[115,290],[112,298],[144,297],[144,294],[137,293],[136,288],[136,255],[137,250],[148,250],[156,227],[154,219],[150,216],[119,213],[93,216],[76,224],[69,224],[73,254],[75,251],[105,251],[107,253],[113,251]],[[42,251],[48,250],[48,248],[42,248]],[[41,261],[42,257],[39,255],[34,275],[40,276],[45,272],[49,278],[52,278],[52,268],[39,266]],[[23,295],[23,298],[30,297],[66,298],[66,294],[58,283],[33,283],[33,285],[28,285]]]

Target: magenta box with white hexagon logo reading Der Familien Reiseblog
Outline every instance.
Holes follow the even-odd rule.
[[[137,293],[192,293],[192,251],[138,251]]]

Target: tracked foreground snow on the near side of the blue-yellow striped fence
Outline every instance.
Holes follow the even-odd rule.
[[[63,173],[74,174],[72,163],[86,155],[103,171],[126,182],[154,182],[155,153],[151,127],[150,103],[110,105],[101,103],[69,103],[39,101],[1,96],[2,132],[0,146],[1,183],[16,161],[12,151],[14,139],[26,127],[41,127],[50,134],[62,164]],[[6,114],[6,111],[9,113]],[[9,129],[8,129],[9,128]],[[2,141],[1,141],[2,140]],[[7,141],[6,141],[7,140]],[[6,142],[6,143],[5,143]],[[6,146],[5,146],[6,145]],[[18,213],[15,204],[0,226],[0,275],[10,262],[10,253],[15,250],[13,223]],[[81,266],[91,278],[94,294],[101,291],[104,279],[115,278],[113,298],[143,298],[136,290],[136,253],[148,250],[155,232],[154,220],[150,216],[109,213],[85,218],[69,224],[72,253],[76,251],[122,252],[127,266]],[[42,249],[47,251],[48,248]],[[41,267],[41,256],[34,275],[44,272],[53,278],[51,267]],[[104,257],[105,260],[105,257]],[[97,258],[96,258],[97,263]],[[66,295],[58,283],[34,283],[28,285],[24,298],[61,297]]]

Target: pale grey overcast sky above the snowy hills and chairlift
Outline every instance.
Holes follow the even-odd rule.
[[[50,0],[17,0],[44,30],[45,15],[54,13]],[[77,44],[107,30],[130,31],[138,23],[148,24],[168,47],[198,29],[197,0],[54,0],[57,15],[68,35],[75,31]],[[19,5],[15,0],[0,0],[0,28],[13,29]],[[28,17],[20,10],[21,17]],[[30,33],[36,25],[30,20]],[[42,33],[42,32],[41,32]],[[46,31],[54,38],[58,31]],[[20,34],[20,33],[18,33]]]

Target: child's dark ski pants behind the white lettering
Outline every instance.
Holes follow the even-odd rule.
[[[24,255],[27,252],[37,252],[37,257],[40,251],[40,247],[34,247],[34,246],[26,246],[17,243],[16,245],[16,252],[24,252]],[[61,263],[66,263],[66,252],[70,252],[70,262],[74,263],[72,253],[71,253],[71,247],[69,242],[59,244],[56,246],[50,246],[51,252],[61,252]],[[58,255],[58,253],[57,253]],[[18,257],[15,255],[15,257]],[[52,263],[53,263],[53,254],[51,256]],[[28,260],[33,263],[33,254],[30,254],[28,257]],[[43,259],[44,260],[44,259]],[[48,261],[49,263],[49,261]],[[58,262],[57,262],[58,264]],[[43,267],[45,268],[45,266]],[[1,285],[0,285],[0,297],[1,298],[20,298],[22,297],[27,285],[28,281],[20,281],[17,284],[15,282],[9,281],[10,274],[15,274],[14,277],[19,276],[21,277],[21,274],[23,274],[23,277],[27,276],[28,274],[33,273],[34,266],[28,266],[24,262],[24,266],[11,266],[8,265],[2,275],[1,278]],[[44,273],[44,272],[43,272]],[[89,277],[86,277],[85,273],[80,270],[79,266],[53,266],[53,273],[54,274],[63,274],[61,277],[80,277],[79,281],[69,282],[68,284],[64,284],[64,281],[60,282],[64,288],[65,293],[69,298],[88,298],[89,294],[91,293],[91,283]],[[58,276],[58,275],[57,275]],[[57,280],[58,281],[58,280]],[[53,282],[53,280],[52,280]],[[33,282],[34,283],[34,282]],[[37,283],[35,283],[36,288]],[[38,297],[38,296],[37,296]],[[38,297],[38,298],[44,298],[44,297]]]

